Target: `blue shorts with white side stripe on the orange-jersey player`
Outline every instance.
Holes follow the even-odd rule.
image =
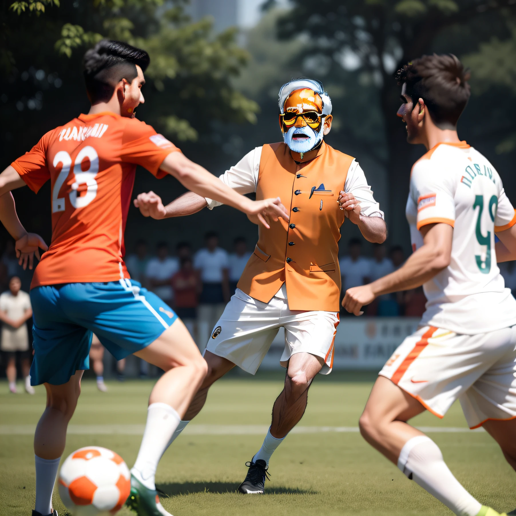
[[[64,283],[30,291],[34,361],[30,383],[61,385],[89,369],[92,333],[121,360],[156,340],[178,317],[137,281]]]

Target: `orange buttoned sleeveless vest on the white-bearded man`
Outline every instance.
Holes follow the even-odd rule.
[[[338,312],[337,243],[344,212],[337,198],[352,160],[324,141],[317,156],[300,165],[285,143],[263,146],[256,199],[280,197],[290,220],[270,221],[270,229],[259,224],[238,288],[268,303],[286,282],[290,310]]]

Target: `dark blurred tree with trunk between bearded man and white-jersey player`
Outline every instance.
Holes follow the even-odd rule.
[[[509,37],[506,20],[516,12],[516,5],[512,0],[320,0],[314,9],[309,0],[292,3],[293,9],[279,20],[280,37],[310,35],[313,43],[302,49],[305,56],[330,59],[356,70],[364,84],[377,86],[389,169],[391,237],[406,240],[400,232],[405,233],[407,172],[414,153],[396,118],[399,88],[393,73],[410,59],[430,52],[436,38],[458,25],[475,25],[475,44],[489,40],[493,33]],[[363,123],[362,117],[356,123]]]

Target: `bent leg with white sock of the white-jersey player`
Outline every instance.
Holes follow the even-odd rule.
[[[397,385],[378,377],[360,417],[360,432],[410,479],[460,516],[489,514],[453,476],[441,450],[407,421],[425,407]]]

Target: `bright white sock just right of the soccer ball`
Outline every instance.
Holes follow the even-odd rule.
[[[131,470],[131,473],[148,489],[156,489],[154,475],[159,459],[168,448],[180,421],[181,417],[170,405],[166,403],[149,405],[140,451]]]

